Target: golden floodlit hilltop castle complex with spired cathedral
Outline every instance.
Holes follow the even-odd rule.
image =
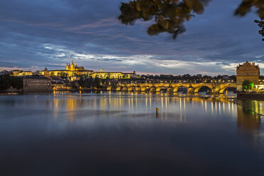
[[[98,77],[101,79],[130,79],[136,78],[136,72],[132,73],[123,73],[123,72],[104,72],[100,70],[99,72],[94,72],[93,70],[85,70],[84,67],[77,67],[72,61],[72,64],[67,63],[66,70],[45,70],[40,71],[40,75],[44,75],[45,77],[50,76],[63,76],[63,77],[76,77],[85,75],[87,77]]]

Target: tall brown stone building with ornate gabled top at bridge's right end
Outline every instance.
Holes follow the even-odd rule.
[[[236,67],[237,90],[243,89],[243,81],[249,80],[253,84],[259,84],[260,67],[255,62],[246,61],[243,65]]]

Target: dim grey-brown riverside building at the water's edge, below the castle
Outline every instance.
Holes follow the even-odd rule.
[[[24,77],[24,92],[49,92],[53,91],[51,80],[47,77]]]

